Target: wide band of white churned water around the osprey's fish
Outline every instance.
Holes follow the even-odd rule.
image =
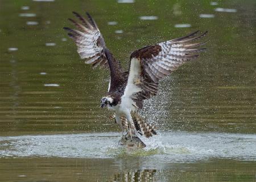
[[[195,162],[210,158],[256,160],[253,134],[162,132],[142,137],[147,147],[128,150],[118,145],[119,133],[55,134],[0,137],[0,157],[59,156],[123,158],[143,156],[156,160]]]

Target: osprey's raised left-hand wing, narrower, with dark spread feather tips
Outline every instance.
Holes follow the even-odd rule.
[[[115,90],[117,83],[122,83],[123,71],[122,67],[113,54],[106,48],[105,41],[97,27],[96,22],[92,16],[86,12],[88,20],[83,18],[77,12],[73,14],[80,20],[81,23],[73,19],[69,20],[79,29],[72,29],[64,27],[68,31],[68,35],[75,41],[77,45],[77,52],[82,59],[85,59],[86,64],[92,64],[92,67],[97,66],[110,69],[110,90]]]

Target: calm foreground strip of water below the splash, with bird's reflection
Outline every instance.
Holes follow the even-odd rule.
[[[2,181],[182,181],[213,182],[255,180],[255,165],[233,160],[208,163],[168,163],[165,169],[140,166],[140,158],[69,159],[16,158],[1,159]],[[11,163],[11,166],[9,165]],[[253,167],[254,165],[254,167]],[[10,172],[11,171],[11,175]]]

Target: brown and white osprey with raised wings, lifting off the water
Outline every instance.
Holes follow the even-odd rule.
[[[73,12],[81,23],[69,19],[79,30],[64,27],[68,35],[75,41],[77,52],[86,64],[93,68],[103,67],[110,70],[110,82],[106,96],[101,99],[101,108],[114,111],[115,122],[122,130],[121,141],[138,141],[137,147],[145,147],[137,137],[136,131],[146,137],[156,134],[153,126],[148,124],[139,109],[143,100],[151,98],[158,92],[160,79],[170,75],[185,62],[194,60],[204,43],[195,43],[207,32],[197,35],[199,31],[187,36],[164,41],[159,44],[145,46],[135,50],[130,56],[128,71],[124,71],[106,47],[105,41],[92,16],[86,12],[88,20]],[[127,132],[123,137],[123,132]],[[127,139],[128,138],[128,139]],[[132,145],[131,143],[129,145]]]

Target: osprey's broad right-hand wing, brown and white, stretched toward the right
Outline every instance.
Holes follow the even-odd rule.
[[[166,77],[185,62],[194,60],[205,48],[198,48],[205,43],[194,43],[207,32],[165,41],[135,50],[130,57],[130,69],[124,96],[135,101],[148,99],[156,95],[161,78]]]

